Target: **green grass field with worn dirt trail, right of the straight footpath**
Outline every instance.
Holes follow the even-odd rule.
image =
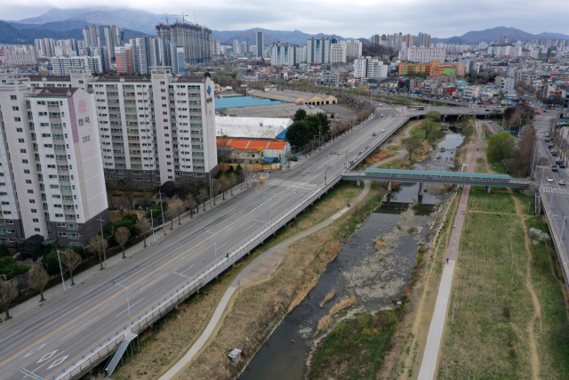
[[[528,238],[548,231],[532,215],[517,192],[470,191],[437,379],[567,378],[565,285],[550,243]]]

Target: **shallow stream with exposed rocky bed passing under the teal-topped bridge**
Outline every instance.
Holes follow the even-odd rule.
[[[413,169],[447,171],[462,140],[460,134],[447,134],[429,158]],[[411,279],[419,246],[444,214],[451,195],[435,184],[426,184],[422,197],[418,191],[418,184],[403,183],[373,211],[328,264],[317,286],[276,327],[241,380],[303,379],[315,340],[325,333],[315,336],[318,321],[338,300],[355,295],[357,303],[349,311],[375,312],[394,306]],[[377,239],[384,246],[381,249],[375,245]],[[333,300],[321,308],[332,291],[336,292]]]

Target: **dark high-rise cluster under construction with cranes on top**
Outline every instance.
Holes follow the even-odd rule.
[[[176,22],[156,25],[156,36],[175,42],[184,48],[186,63],[212,61],[212,30],[199,25]]]

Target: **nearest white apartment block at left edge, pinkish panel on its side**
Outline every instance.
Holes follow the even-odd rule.
[[[0,110],[0,239],[84,244],[100,231],[98,218],[108,220],[92,95],[3,77]]]

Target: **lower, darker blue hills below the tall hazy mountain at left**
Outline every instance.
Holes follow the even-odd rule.
[[[53,27],[53,24],[57,24],[55,22],[49,22],[47,24],[42,24],[36,26],[36,28],[15,28],[11,23],[0,20],[0,44],[34,44],[34,39],[36,38],[54,38],[54,39],[63,39],[63,38],[75,38],[75,39],[83,39],[83,30],[82,28],[74,28],[71,30],[50,30],[44,28],[44,25],[47,27]],[[102,31],[102,26],[100,28],[100,39],[101,43],[105,45],[105,34]],[[147,36],[142,32],[136,30],[129,30],[124,29],[124,39],[128,40],[130,38],[134,38],[137,36]]]

